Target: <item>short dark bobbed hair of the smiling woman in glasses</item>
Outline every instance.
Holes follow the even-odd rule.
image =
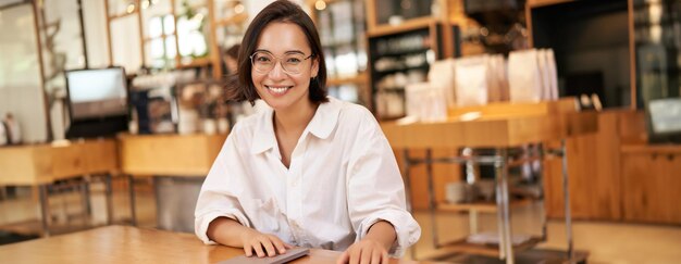
[[[324,61],[324,52],[319,40],[319,33],[314,27],[312,18],[302,11],[302,9],[288,0],[277,0],[265,7],[250,23],[238,55],[238,83],[235,79],[228,81],[227,98],[228,100],[246,101],[251,104],[260,98],[253,86],[251,77],[250,55],[255,52],[258,39],[262,29],[272,22],[293,23],[300,27],[305,33],[308,45],[312,49],[312,55],[319,64],[317,77],[310,79],[309,99],[314,103],[327,102],[326,98],[326,62]],[[236,83],[236,84],[235,84]]]

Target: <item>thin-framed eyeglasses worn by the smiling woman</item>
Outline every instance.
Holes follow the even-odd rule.
[[[257,51],[250,55],[250,63],[253,66],[253,70],[261,74],[267,74],[272,71],[277,61],[282,65],[284,72],[288,74],[299,74],[304,68],[302,62],[313,55],[314,54],[305,56],[305,54],[301,53],[287,53],[283,58],[278,58],[268,51]]]

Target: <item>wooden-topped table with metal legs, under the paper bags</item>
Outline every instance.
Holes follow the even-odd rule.
[[[454,112],[454,113],[453,113]],[[475,112],[476,117],[465,118],[467,113]],[[450,111],[448,121],[432,123],[382,123],[381,128],[387,137],[394,149],[404,150],[403,173],[405,185],[409,190],[409,166],[418,163],[426,165],[426,176],[429,184],[429,208],[431,210],[431,222],[433,230],[437,229],[434,211],[437,209],[434,199],[434,186],[432,176],[432,164],[435,162],[445,163],[476,163],[494,165],[496,168],[496,210],[499,232],[498,249],[490,247],[470,244],[463,240],[457,240],[446,244],[453,251],[472,252],[475,254],[484,254],[505,259],[506,263],[513,263],[513,251],[532,247],[534,243],[543,241],[545,237],[545,216],[544,235],[542,237],[533,237],[527,243],[511,246],[511,227],[509,216],[509,193],[508,193],[508,166],[511,161],[507,152],[507,148],[522,147],[529,143],[541,143],[553,140],[561,140],[561,149],[555,153],[562,156],[564,160],[564,185],[566,187],[566,226],[568,228],[568,255],[572,257],[572,238],[568,199],[568,175],[567,156],[565,155],[565,139],[577,135],[585,135],[597,131],[597,113],[596,112],[578,112],[574,109],[574,102],[571,99],[560,101],[540,102],[540,103],[498,103],[493,105],[459,109]],[[470,115],[469,115],[470,116]],[[470,155],[470,156],[451,156],[445,159],[433,159],[431,156],[432,149],[458,149],[458,148],[493,148],[496,150],[494,155]],[[410,149],[425,149],[425,159],[418,160],[409,158]],[[545,151],[532,154],[532,159],[542,159]],[[471,181],[469,181],[470,184]],[[407,192],[408,199],[411,196]],[[492,206],[494,206],[492,205]],[[471,211],[471,219],[476,218],[475,206],[449,206],[457,211]],[[487,209],[485,205],[481,209]],[[490,211],[490,210],[487,210]],[[475,229],[472,224],[471,230]],[[473,232],[473,231],[472,231]],[[437,234],[433,232],[433,242],[436,247],[441,247]],[[529,243],[532,243],[529,244]],[[443,246],[444,247],[444,246]],[[412,252],[413,254],[413,252]]]

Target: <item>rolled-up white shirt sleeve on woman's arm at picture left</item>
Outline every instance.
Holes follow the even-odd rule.
[[[250,227],[250,223],[238,202],[236,190],[242,185],[238,175],[243,175],[244,166],[235,144],[234,134],[225,140],[218,158],[213,162],[196,203],[194,212],[194,230],[196,236],[207,244],[214,241],[208,238],[210,223],[218,217],[228,217]],[[227,167],[230,171],[227,172]]]

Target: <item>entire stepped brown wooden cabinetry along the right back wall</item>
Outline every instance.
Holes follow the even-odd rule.
[[[681,146],[645,139],[642,112],[606,111],[597,134],[567,140],[572,218],[681,224]],[[544,162],[544,189],[547,216],[564,217],[559,159]]]

